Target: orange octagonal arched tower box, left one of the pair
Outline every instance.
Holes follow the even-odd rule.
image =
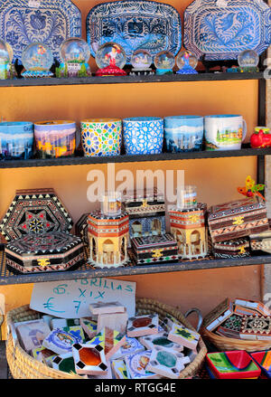
[[[128,260],[129,217],[89,214],[89,262],[98,268],[117,268]]]

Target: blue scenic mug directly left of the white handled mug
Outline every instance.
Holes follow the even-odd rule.
[[[204,118],[201,116],[169,116],[164,118],[164,138],[167,152],[201,150]]]

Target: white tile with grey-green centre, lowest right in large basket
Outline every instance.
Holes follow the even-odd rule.
[[[183,356],[182,353],[155,346],[146,369],[166,378],[178,379],[184,364],[189,363],[189,357]]]

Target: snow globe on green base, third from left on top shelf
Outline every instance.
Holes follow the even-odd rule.
[[[61,44],[61,64],[56,68],[56,77],[88,77],[89,44],[79,37],[70,37]]]

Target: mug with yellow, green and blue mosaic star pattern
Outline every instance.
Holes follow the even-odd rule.
[[[84,155],[118,156],[121,145],[120,118],[87,118],[81,123]]]

